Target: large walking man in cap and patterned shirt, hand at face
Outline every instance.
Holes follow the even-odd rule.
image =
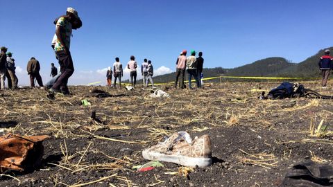
[[[80,26],[82,26],[82,22],[74,8],[67,8],[66,15],[56,20],[56,34],[53,36],[52,45],[54,45],[54,51],[56,51],[58,57],[61,75],[53,84],[53,87],[49,89],[51,94],[60,91],[62,94],[69,94],[67,83],[69,77],[74,73],[74,64],[69,51],[71,30],[72,28],[80,28]]]

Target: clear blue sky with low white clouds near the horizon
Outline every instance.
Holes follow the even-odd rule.
[[[184,49],[202,51],[204,67],[234,68],[266,57],[302,62],[333,46],[332,1],[321,0],[0,0],[0,46],[8,47],[19,84],[27,85],[26,64],[35,57],[47,82],[54,19],[75,8],[83,26],[73,30],[75,72],[69,84],[101,81],[119,57],[151,60],[155,75],[176,70]],[[138,69],[139,70],[139,69]],[[140,70],[139,70],[140,71]],[[140,73],[138,73],[140,74]],[[123,79],[129,77],[124,72]]]

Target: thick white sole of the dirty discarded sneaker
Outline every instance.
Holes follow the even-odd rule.
[[[160,152],[149,152],[148,150],[142,151],[142,157],[147,160],[152,161],[167,161],[172,163],[178,163],[182,166],[187,166],[195,168],[196,166],[200,168],[205,168],[212,165],[212,159],[210,158],[194,158],[185,157],[182,155],[168,155],[162,154]]]

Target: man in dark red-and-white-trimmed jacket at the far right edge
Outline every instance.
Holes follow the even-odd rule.
[[[330,49],[326,49],[324,53],[325,55],[323,55],[318,62],[319,69],[321,69],[321,86],[323,89],[327,88],[326,83],[330,76],[330,71],[333,68],[333,57],[330,56]]]

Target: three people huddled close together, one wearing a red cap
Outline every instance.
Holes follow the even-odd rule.
[[[179,87],[181,89],[185,88],[184,78],[185,78],[185,70],[187,70],[187,75],[189,78],[189,89],[193,89],[191,85],[191,79],[194,77],[196,80],[196,87],[202,87],[201,78],[203,77],[203,52],[198,53],[198,57],[196,57],[196,51],[192,50],[191,55],[186,57],[187,51],[184,50],[180,53],[180,56],[176,61],[176,80],[175,80],[175,88],[177,88],[177,83],[179,80]]]

